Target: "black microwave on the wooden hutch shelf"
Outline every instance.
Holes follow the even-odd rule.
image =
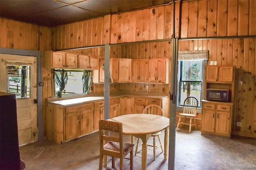
[[[231,91],[227,89],[206,89],[206,100],[230,102]]]

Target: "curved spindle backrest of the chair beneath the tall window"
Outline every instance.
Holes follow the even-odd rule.
[[[195,97],[187,97],[183,105],[183,113],[196,115],[198,100]]]

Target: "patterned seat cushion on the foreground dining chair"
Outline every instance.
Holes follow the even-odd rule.
[[[123,143],[124,155],[128,154],[132,150],[133,146],[134,144],[131,144],[131,143]],[[112,142],[112,141],[109,141],[108,143],[106,143],[103,146],[103,148],[118,151],[118,152],[120,150],[119,142]]]

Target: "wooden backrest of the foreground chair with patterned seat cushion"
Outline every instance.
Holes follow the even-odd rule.
[[[100,150],[104,151],[104,144],[108,141],[119,142],[120,146],[123,143],[123,128],[122,123],[107,121],[104,119],[99,120],[99,132],[100,132]],[[114,154],[117,151],[107,150],[107,152],[113,152]],[[120,156],[123,154],[123,149],[119,149]]]

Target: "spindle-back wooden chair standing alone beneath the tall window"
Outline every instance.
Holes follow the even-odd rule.
[[[178,130],[178,127],[179,127],[180,123],[183,124],[183,126],[184,125],[189,125],[189,132],[191,131],[191,126],[195,125],[195,127],[196,127],[195,117],[196,117],[197,107],[198,107],[198,101],[195,97],[187,97],[185,99],[184,106],[183,106],[183,113],[179,113],[180,118],[179,118],[176,130]],[[184,117],[184,121],[180,122],[182,117]],[[185,123],[186,118],[190,119],[189,123]],[[194,119],[194,124],[191,124],[192,119]]]

